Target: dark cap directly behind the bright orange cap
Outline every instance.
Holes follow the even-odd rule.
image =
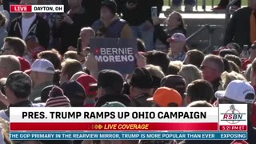
[[[178,93],[181,94],[182,98],[184,98],[184,94],[186,92],[186,81],[182,76],[172,74],[167,75],[162,78],[161,86],[177,90]]]

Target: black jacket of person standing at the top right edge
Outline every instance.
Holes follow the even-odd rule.
[[[250,42],[250,14],[252,9],[245,7],[234,12],[226,28],[224,45],[236,42],[239,46],[251,45]]]

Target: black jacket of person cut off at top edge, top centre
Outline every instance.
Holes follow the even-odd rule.
[[[122,1],[118,6],[118,13],[122,13],[122,18],[130,24],[130,26],[140,26],[143,22],[151,20],[151,7],[158,7],[158,14],[162,11],[163,1],[162,0],[137,0],[137,5],[133,10],[126,8],[126,3],[130,0],[119,0]],[[120,2],[118,2],[120,3]]]

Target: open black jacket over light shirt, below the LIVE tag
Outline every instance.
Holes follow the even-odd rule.
[[[30,26],[27,36],[29,35],[35,35],[38,38],[39,44],[47,48],[50,42],[50,26],[46,20],[37,16]],[[22,38],[22,16],[10,22],[8,36]]]

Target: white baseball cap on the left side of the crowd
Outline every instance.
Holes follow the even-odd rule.
[[[31,66],[31,71],[54,74],[54,65],[46,59],[37,59]]]

